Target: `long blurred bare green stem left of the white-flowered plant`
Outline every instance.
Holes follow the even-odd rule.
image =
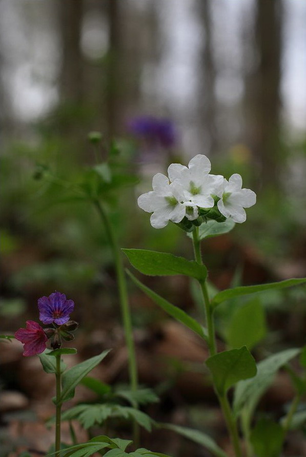
[[[130,375],[130,383],[131,383],[131,390],[135,392],[138,386],[138,376],[137,376],[137,365],[136,365],[136,355],[135,355],[135,345],[133,339],[133,329],[132,329],[132,321],[131,321],[131,313],[128,301],[128,291],[127,291],[127,283],[124,273],[124,266],[123,261],[121,259],[119,247],[117,244],[117,240],[113,233],[113,228],[107,213],[104,210],[104,207],[98,200],[93,200],[93,203],[105,225],[105,229],[109,238],[109,241],[112,246],[113,256],[115,260],[116,266],[116,274],[117,274],[117,281],[118,281],[118,289],[119,289],[119,296],[120,296],[120,307],[121,307],[121,314],[123,318],[123,325],[125,330],[126,336],[126,344],[129,353],[129,375]]]

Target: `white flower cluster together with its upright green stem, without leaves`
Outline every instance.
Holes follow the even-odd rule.
[[[242,223],[246,211],[255,204],[256,194],[242,188],[238,174],[229,181],[221,175],[211,175],[211,163],[201,154],[193,157],[188,167],[172,163],[168,168],[169,180],[158,173],[153,177],[153,191],[138,198],[138,206],[151,215],[151,225],[155,229],[165,227],[169,221],[178,224],[183,230],[192,232],[195,260],[202,265],[199,226],[209,219],[222,222],[232,219]],[[207,341],[210,356],[217,354],[213,309],[208,295],[207,280],[198,279],[201,288],[201,312],[207,325]],[[220,406],[231,435],[236,457],[241,457],[237,423],[233,416],[226,392],[215,388]]]

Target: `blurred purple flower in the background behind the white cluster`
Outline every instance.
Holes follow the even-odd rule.
[[[175,129],[170,119],[139,116],[128,123],[129,130],[153,144],[172,147],[176,141]]]

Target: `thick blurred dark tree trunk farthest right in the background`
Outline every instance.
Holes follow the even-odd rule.
[[[282,1],[257,0],[256,6],[255,36],[259,63],[254,74],[252,143],[262,185],[278,187]]]

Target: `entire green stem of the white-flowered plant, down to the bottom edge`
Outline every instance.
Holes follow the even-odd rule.
[[[203,264],[202,256],[201,256],[201,249],[200,249],[200,240],[199,240],[199,228],[195,227],[192,232],[193,236],[193,250],[194,250],[194,257],[197,263]],[[205,315],[206,325],[207,325],[207,332],[208,332],[208,347],[210,355],[215,355],[217,353],[216,349],[216,340],[215,340],[215,327],[214,327],[214,320],[213,320],[213,310],[211,309],[210,299],[208,296],[207,290],[207,283],[205,281],[199,281],[201,291],[202,291],[202,311]],[[231,406],[229,404],[228,398],[226,395],[220,396],[218,392],[216,392],[217,397],[219,399],[220,406],[222,408],[223,415],[225,417],[228,430],[232,439],[232,443],[235,450],[236,457],[241,457],[241,448],[239,442],[239,435],[237,430],[237,423],[233,417],[233,413],[231,410]]]

